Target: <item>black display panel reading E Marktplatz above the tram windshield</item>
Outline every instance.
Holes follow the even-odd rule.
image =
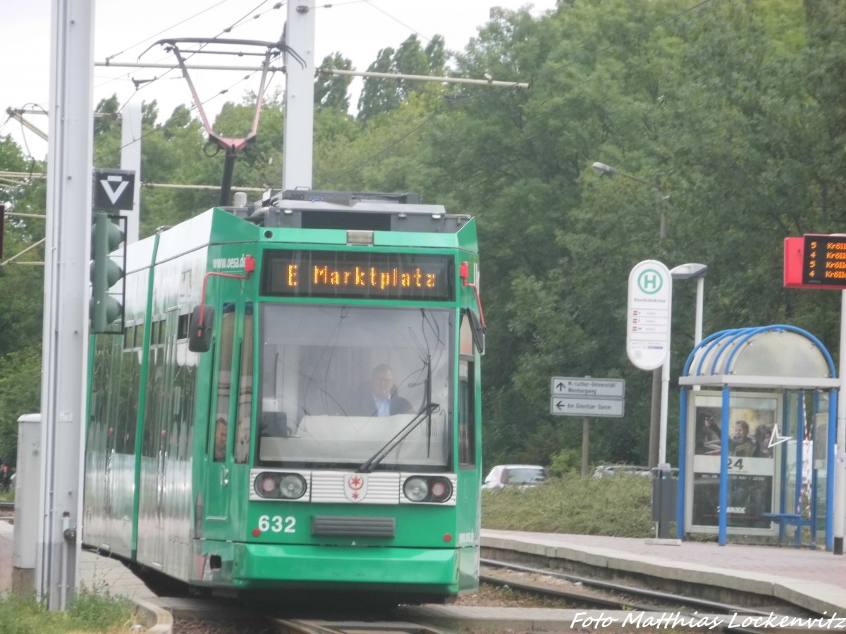
[[[450,301],[455,298],[448,255],[352,251],[265,252],[264,295]]]

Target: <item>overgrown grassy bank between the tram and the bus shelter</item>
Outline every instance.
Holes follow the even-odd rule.
[[[651,479],[637,476],[551,478],[528,489],[483,491],[483,528],[533,533],[646,538],[651,521]]]

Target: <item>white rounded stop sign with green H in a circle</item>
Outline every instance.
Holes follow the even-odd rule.
[[[626,353],[635,367],[660,368],[670,351],[673,276],[657,260],[644,260],[629,273]]]

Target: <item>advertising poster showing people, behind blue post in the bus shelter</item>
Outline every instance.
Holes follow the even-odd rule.
[[[692,495],[689,517],[695,527],[719,526],[722,396],[699,394],[694,403]],[[778,420],[778,399],[732,395],[728,412],[727,527],[733,533],[772,532],[777,446],[770,445]]]

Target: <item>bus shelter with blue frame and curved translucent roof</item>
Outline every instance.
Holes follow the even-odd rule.
[[[689,354],[681,386],[677,533],[777,536],[833,547],[839,380],[791,325],[720,331]]]

